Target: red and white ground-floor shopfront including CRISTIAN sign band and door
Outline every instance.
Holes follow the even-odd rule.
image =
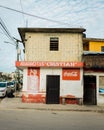
[[[83,99],[82,62],[17,61],[16,66],[24,69],[23,102],[78,104]]]

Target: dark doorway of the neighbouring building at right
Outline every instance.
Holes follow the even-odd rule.
[[[84,76],[84,104],[96,105],[96,76]]]

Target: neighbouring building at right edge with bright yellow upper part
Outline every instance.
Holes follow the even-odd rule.
[[[104,39],[83,39],[84,104],[104,104]]]

